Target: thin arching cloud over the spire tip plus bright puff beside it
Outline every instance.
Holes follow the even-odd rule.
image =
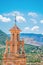
[[[13,11],[13,12],[10,12],[10,13],[7,13],[7,14],[3,14],[4,16],[13,16],[15,17],[16,15],[16,20],[18,22],[26,22],[26,19],[24,18],[24,15],[22,13],[20,13],[19,11]]]

